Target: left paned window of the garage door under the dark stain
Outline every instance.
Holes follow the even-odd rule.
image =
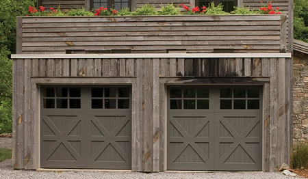
[[[171,88],[170,109],[209,109],[209,89]]]

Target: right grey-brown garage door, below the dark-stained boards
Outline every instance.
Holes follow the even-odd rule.
[[[167,169],[261,170],[261,87],[168,87]]]

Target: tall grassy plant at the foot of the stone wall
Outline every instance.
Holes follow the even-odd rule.
[[[292,167],[294,169],[307,167],[308,164],[308,146],[298,144],[293,152]]]

